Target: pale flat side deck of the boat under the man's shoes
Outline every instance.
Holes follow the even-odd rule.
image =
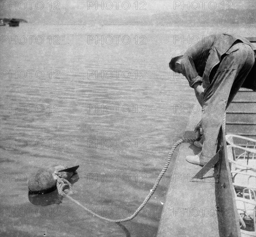
[[[194,136],[193,128],[200,119],[200,113],[190,116],[184,137]],[[180,146],[157,236],[217,237],[219,228],[214,169],[205,175],[203,181],[191,181],[191,177],[202,167],[190,164],[185,157],[198,154],[200,149],[192,143],[183,143]]]

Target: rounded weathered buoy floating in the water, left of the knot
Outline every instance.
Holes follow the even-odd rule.
[[[31,175],[28,189],[33,193],[49,193],[56,189],[56,180],[50,171],[40,169]]]

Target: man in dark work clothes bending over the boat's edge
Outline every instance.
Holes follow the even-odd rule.
[[[202,120],[195,131],[198,134],[202,128],[204,145],[201,153],[186,157],[188,162],[205,165],[215,155],[225,110],[241,86],[256,90],[253,50],[243,37],[216,34],[171,59],[170,69],[186,77],[202,106]]]

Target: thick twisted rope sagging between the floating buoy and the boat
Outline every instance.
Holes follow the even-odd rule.
[[[200,138],[199,138],[200,139]],[[150,190],[150,193],[148,194],[148,196],[145,198],[144,202],[138,207],[138,209],[133,213],[133,215],[131,215],[130,217],[127,217],[127,218],[123,218],[123,219],[109,219],[109,218],[105,218],[101,215],[98,215],[96,214],[95,212],[92,212],[90,209],[86,208],[85,206],[83,206],[81,203],[79,203],[77,200],[73,199],[71,196],[69,196],[67,194],[67,192],[65,192],[63,189],[64,187],[71,187],[71,184],[69,181],[67,181],[66,179],[64,178],[61,178],[57,172],[54,172],[53,176],[54,176],[54,179],[57,180],[57,189],[58,189],[58,193],[61,195],[61,196],[64,196],[64,197],[67,197],[69,198],[71,201],[73,201],[74,203],[76,203],[77,205],[81,206],[83,209],[85,209],[87,212],[90,212],[92,215],[95,215],[97,216],[98,218],[101,218],[105,221],[111,221],[111,222],[116,222],[116,223],[119,223],[119,222],[124,222],[124,221],[130,221],[132,220],[134,217],[136,217],[136,215],[139,214],[139,212],[142,210],[142,208],[148,203],[149,199],[152,197],[152,195],[155,193],[155,190],[156,188],[158,187],[158,184],[161,180],[161,178],[163,177],[164,173],[166,172],[169,164],[170,164],[170,161],[171,161],[171,158],[173,156],[173,153],[175,151],[175,149],[180,145],[180,143],[184,143],[184,142],[194,142],[196,140],[199,140],[199,139],[196,139],[196,138],[186,138],[186,139],[180,139],[178,140],[176,143],[174,143],[173,147],[171,148],[171,151],[170,153],[168,154],[168,158],[165,162],[165,165],[164,165],[164,168],[162,169],[161,173],[158,175],[158,178],[156,179],[155,181],[155,184],[154,186],[152,187],[152,189]]]

